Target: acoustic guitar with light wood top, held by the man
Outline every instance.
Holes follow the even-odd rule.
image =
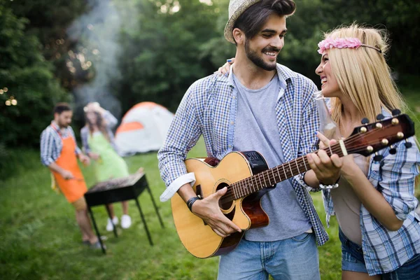
[[[376,153],[374,160],[381,160],[382,156],[377,151],[391,146],[390,153],[395,153],[392,144],[414,135],[412,120],[405,114],[399,114],[398,109],[394,110],[393,118],[371,124],[367,124],[369,121],[364,119],[365,125],[356,127],[350,137],[323,150],[328,155],[335,153],[339,157],[353,153],[364,156]],[[384,117],[379,115],[377,118]],[[411,143],[406,140],[405,147],[410,146]],[[197,258],[228,253],[239,244],[246,230],[268,225],[269,218],[260,204],[262,195],[272,190],[276,183],[310,169],[306,155],[268,169],[262,155],[255,151],[229,153],[216,166],[209,165],[204,158],[191,158],[185,164],[188,172],[195,174],[197,181],[193,189],[197,195],[207,197],[228,187],[226,194],[219,200],[219,206],[223,214],[242,230],[225,238],[216,235],[175,194],[171,204],[176,231],[183,246]]]

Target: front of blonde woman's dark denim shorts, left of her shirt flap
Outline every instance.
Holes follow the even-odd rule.
[[[341,229],[338,237],[342,243],[342,270],[367,273],[362,246],[350,241]]]

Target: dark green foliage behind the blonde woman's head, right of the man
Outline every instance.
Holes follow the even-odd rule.
[[[420,31],[419,1],[302,0],[296,1],[296,6],[295,15],[288,19],[290,34],[279,58],[291,69],[318,81],[314,70],[320,60],[316,49],[322,33],[357,22],[387,30],[391,43],[387,59],[394,71],[420,73],[416,66],[419,56],[414,50]]]

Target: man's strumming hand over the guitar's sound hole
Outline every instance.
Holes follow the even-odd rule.
[[[197,200],[191,208],[193,214],[202,218],[204,223],[207,223],[220,237],[228,237],[234,232],[241,232],[241,228],[223,215],[218,205],[218,201],[227,190],[228,188],[225,187],[209,197]]]

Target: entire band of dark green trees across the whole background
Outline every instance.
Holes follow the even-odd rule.
[[[195,80],[213,73],[225,59],[235,55],[235,45],[223,36],[229,0],[109,1],[122,22],[118,66],[108,69],[100,63],[100,59],[109,58],[105,52],[102,56],[85,54],[92,67],[83,70],[75,56],[85,49],[80,50],[78,43],[85,48],[102,48],[105,44],[88,41],[83,32],[80,38],[70,39],[67,28],[79,15],[97,7],[99,0],[0,0],[0,89],[8,87],[8,92],[0,94],[3,146],[36,146],[52,105],[69,99],[62,87],[71,91],[78,85],[94,85],[92,81],[98,73],[105,72],[109,76],[106,84],[122,104],[121,111],[141,101],[158,102],[174,111]],[[319,62],[316,44],[323,31],[356,21],[386,27],[392,44],[387,57],[391,68],[400,77],[419,74],[416,65],[420,58],[414,50],[420,31],[418,1],[296,3],[296,13],[287,22],[286,44],[279,55],[281,64],[318,83],[314,73]],[[85,20],[89,22],[88,18]],[[111,20],[115,19],[108,18],[106,22]],[[106,25],[100,27],[97,20],[89,34],[106,36]],[[69,71],[67,63],[74,66],[76,73]],[[18,101],[17,106],[6,106],[11,97]],[[75,108],[76,126],[83,123],[81,108],[80,104]]]

